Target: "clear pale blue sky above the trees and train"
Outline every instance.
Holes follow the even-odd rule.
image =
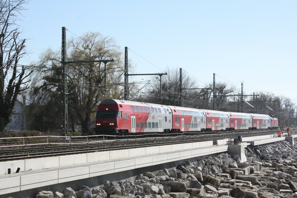
[[[98,31],[160,68],[129,51],[135,73],[177,67],[206,84],[216,73],[244,81],[247,94],[269,91],[297,102],[297,1],[31,0],[26,6],[19,24],[31,38],[31,60],[48,47],[60,49],[62,26],[76,35]],[[216,82],[228,82],[219,76]]]

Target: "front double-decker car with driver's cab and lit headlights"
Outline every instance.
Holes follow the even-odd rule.
[[[126,135],[135,132],[169,132],[172,112],[166,105],[107,99],[96,113],[95,132]]]

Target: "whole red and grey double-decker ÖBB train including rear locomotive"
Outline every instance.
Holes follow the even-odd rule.
[[[176,133],[277,129],[269,115],[175,107],[107,99],[96,112],[96,134]]]

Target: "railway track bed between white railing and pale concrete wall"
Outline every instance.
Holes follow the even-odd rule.
[[[194,134],[194,135],[179,135],[179,136],[166,136],[162,137],[147,137],[147,138],[127,138],[125,140],[106,140],[101,142],[82,142],[78,144],[75,142],[69,145],[58,145],[43,147],[21,147],[14,149],[0,150],[0,161],[20,160],[20,159],[32,159],[39,157],[49,156],[61,156],[79,153],[90,153],[99,151],[113,151],[119,149],[129,148],[141,148],[157,145],[169,145],[169,144],[181,144],[189,142],[200,142],[209,140],[220,140],[227,138],[237,138],[238,135],[243,137],[274,134],[278,130],[266,130],[266,131],[250,131],[250,132],[224,132],[214,134]],[[292,131],[294,132],[294,131]]]

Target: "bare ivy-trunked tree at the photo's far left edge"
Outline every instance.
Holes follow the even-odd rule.
[[[5,119],[5,126],[17,97],[28,89],[26,78],[31,74],[29,68],[19,65],[19,60],[26,55],[25,39],[21,38],[20,27],[22,11],[28,0],[0,1],[0,28],[5,35],[0,37],[0,117]]]

